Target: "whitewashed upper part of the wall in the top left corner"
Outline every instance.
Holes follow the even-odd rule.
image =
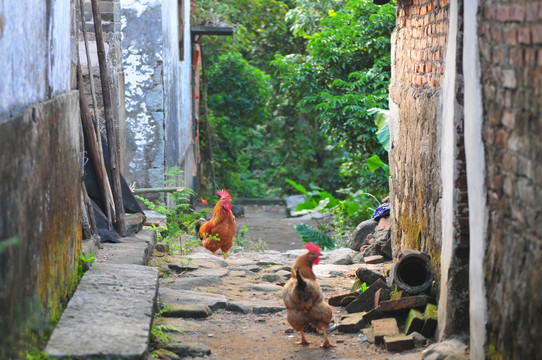
[[[70,0],[49,2],[0,1],[0,118],[70,90]]]

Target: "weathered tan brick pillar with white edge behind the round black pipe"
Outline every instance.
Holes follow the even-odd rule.
[[[462,2],[450,9],[448,0],[397,3],[390,85],[394,255],[430,255],[441,338],[469,327]]]

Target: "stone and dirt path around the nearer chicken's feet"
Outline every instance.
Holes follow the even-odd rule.
[[[191,358],[223,360],[389,358],[390,354],[369,344],[362,333],[332,331],[330,339],[337,345],[332,349],[319,347],[323,337],[318,333],[307,334],[312,342],[309,346],[294,344],[299,333],[286,322],[280,284],[305,252],[239,251],[225,261],[203,248],[188,256],[155,253],[149,265],[160,269],[159,299],[166,305],[156,324],[183,331],[168,333],[175,339],[168,343],[169,348],[178,350],[180,343],[185,354],[192,352]],[[350,249],[324,252],[321,263],[314,267],[326,300],[350,291],[359,266],[351,264],[356,254]],[[344,308],[334,308],[334,323],[345,314]]]

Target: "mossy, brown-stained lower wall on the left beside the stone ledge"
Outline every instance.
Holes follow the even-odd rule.
[[[0,249],[0,358],[57,320],[77,285],[81,159],[76,91],[0,121],[0,244],[12,239]]]

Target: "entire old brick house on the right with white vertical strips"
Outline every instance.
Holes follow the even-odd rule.
[[[542,349],[542,2],[398,0],[390,85],[396,254],[431,254],[439,339]]]

